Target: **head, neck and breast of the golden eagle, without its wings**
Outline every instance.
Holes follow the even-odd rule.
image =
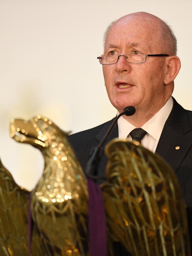
[[[46,256],[86,256],[87,182],[67,133],[41,116],[12,120],[10,132],[14,140],[38,148],[45,160],[32,192],[31,213]]]

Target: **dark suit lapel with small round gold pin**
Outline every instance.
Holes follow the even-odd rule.
[[[191,129],[187,111],[173,98],[173,109],[165,122],[155,153],[161,155],[175,172],[192,145],[185,135]]]

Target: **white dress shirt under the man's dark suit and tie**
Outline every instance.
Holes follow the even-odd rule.
[[[172,97],[170,97],[168,101],[165,103],[165,105],[151,119],[149,119],[147,123],[141,126],[141,128],[147,132],[147,134],[141,141],[141,144],[143,147],[149,149],[153,153],[155,153],[163,127],[165,125],[165,122],[172,108],[173,108],[173,99]],[[121,116],[118,119],[117,123],[118,123],[119,139],[126,139],[127,137],[128,140],[132,141],[132,138],[129,135],[129,133],[137,127],[129,123],[126,119],[123,118],[123,116]]]

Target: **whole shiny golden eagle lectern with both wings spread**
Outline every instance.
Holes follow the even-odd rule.
[[[45,160],[43,175],[32,192],[34,230],[31,248],[37,240],[42,242],[44,255],[88,256],[87,182],[69,145],[67,133],[41,116],[28,121],[14,119],[10,131],[16,141],[38,148]],[[158,155],[127,140],[109,142],[106,154],[109,158],[107,179],[101,189],[109,244],[119,241],[133,256],[190,256],[185,205],[170,166]],[[13,184],[13,179],[9,179]],[[5,180],[3,178],[1,187],[7,189]],[[21,190],[19,198],[27,195],[22,203],[27,209],[29,192],[18,189]],[[10,192],[8,196],[12,205],[14,198]],[[5,203],[1,205],[0,220],[6,207]],[[15,207],[17,212],[22,211],[21,204]],[[17,218],[17,214],[12,216]],[[19,219],[18,225],[25,230],[27,213],[25,218]],[[1,231],[1,237],[4,237],[1,246],[9,248],[6,250],[10,253],[3,255],[22,255],[14,252],[14,247],[10,246],[12,240],[6,240],[4,234],[8,232],[5,231],[5,228]],[[13,234],[10,230],[9,237]],[[14,243],[18,245],[18,241]],[[25,244],[27,246],[29,242]],[[109,249],[109,255],[113,255],[112,249]]]

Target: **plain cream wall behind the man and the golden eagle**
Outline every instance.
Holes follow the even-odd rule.
[[[0,0],[0,157],[19,185],[32,189],[43,158],[9,137],[12,118],[41,114],[78,132],[115,116],[97,56],[123,15],[146,11],[172,26],[182,63],[173,96],[192,109],[191,9],[191,0]]]

